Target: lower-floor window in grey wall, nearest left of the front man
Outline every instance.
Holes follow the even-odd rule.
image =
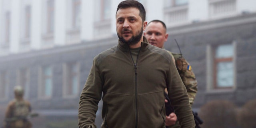
[[[65,97],[77,96],[79,90],[79,64],[64,64],[63,92]]]

